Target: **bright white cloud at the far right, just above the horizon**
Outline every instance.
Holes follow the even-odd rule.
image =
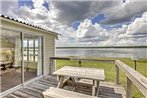
[[[132,23],[120,29],[112,30],[108,45],[147,45],[147,12]]]

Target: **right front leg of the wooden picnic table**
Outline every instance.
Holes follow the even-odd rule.
[[[99,81],[93,80],[92,96],[98,96],[99,94]]]

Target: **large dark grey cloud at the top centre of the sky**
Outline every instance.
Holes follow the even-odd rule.
[[[55,14],[54,19],[68,26],[74,21],[92,18],[103,10],[109,9],[109,7],[114,7],[119,3],[120,1],[115,0],[50,1],[50,5],[53,6],[53,13]]]

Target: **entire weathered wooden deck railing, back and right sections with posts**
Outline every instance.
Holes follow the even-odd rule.
[[[134,84],[139,91],[147,98],[147,78],[135,71],[133,68],[129,67],[125,63],[120,60],[98,60],[92,58],[75,58],[75,57],[50,57],[50,72],[51,75],[55,71],[54,60],[76,60],[79,62],[79,66],[81,66],[82,61],[95,61],[95,62],[110,62],[116,65],[116,84],[119,84],[119,71],[125,73],[127,77],[127,86],[126,86],[126,98],[132,98],[132,84]]]

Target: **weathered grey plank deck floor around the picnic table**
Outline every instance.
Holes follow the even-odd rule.
[[[24,88],[14,91],[8,94],[4,98],[43,98],[42,92],[49,87],[57,86],[57,78],[54,76],[45,76],[43,78],[34,81]],[[91,88],[76,88],[73,89],[72,86],[66,86],[64,89],[74,90],[75,92],[84,93],[91,95]],[[116,85],[109,82],[100,83],[100,98],[126,98],[125,90],[121,85]]]

